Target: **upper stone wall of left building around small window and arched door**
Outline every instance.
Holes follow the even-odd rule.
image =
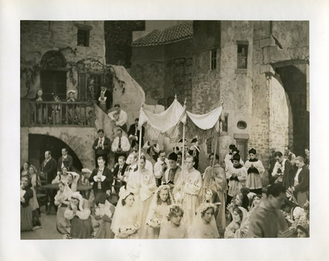
[[[91,26],[89,47],[77,46],[77,26]],[[105,64],[105,44],[103,21],[21,21],[21,68],[39,65],[42,56],[51,50],[63,49],[66,62],[76,63],[78,60],[94,58]],[[72,50],[76,49],[75,54]],[[33,98],[40,87],[38,71],[30,89],[26,87],[26,77],[21,77],[21,97]],[[66,77],[66,88],[77,89],[77,71],[73,70],[75,84]]]

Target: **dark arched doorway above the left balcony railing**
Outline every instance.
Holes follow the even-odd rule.
[[[60,100],[66,99],[66,60],[62,53],[49,51],[40,61],[40,87],[45,101],[53,100],[58,95]]]

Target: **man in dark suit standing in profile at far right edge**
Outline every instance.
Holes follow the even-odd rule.
[[[310,194],[310,170],[304,163],[304,158],[298,156],[295,158],[295,164],[298,170],[295,175],[295,184],[292,188],[298,205],[303,207],[307,200],[309,200]]]

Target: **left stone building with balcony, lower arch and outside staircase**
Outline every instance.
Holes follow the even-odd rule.
[[[103,21],[21,21],[21,163],[38,167],[45,150],[57,160],[68,147],[76,170],[92,169],[97,130],[113,140],[117,129],[94,103],[101,84],[132,124],[145,95],[125,68],[106,65]],[[66,102],[69,90],[75,102]]]

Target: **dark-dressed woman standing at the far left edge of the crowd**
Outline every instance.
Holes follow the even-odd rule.
[[[21,178],[21,231],[32,231],[32,207],[29,205],[29,200],[33,198],[31,190],[31,178],[23,176]]]

